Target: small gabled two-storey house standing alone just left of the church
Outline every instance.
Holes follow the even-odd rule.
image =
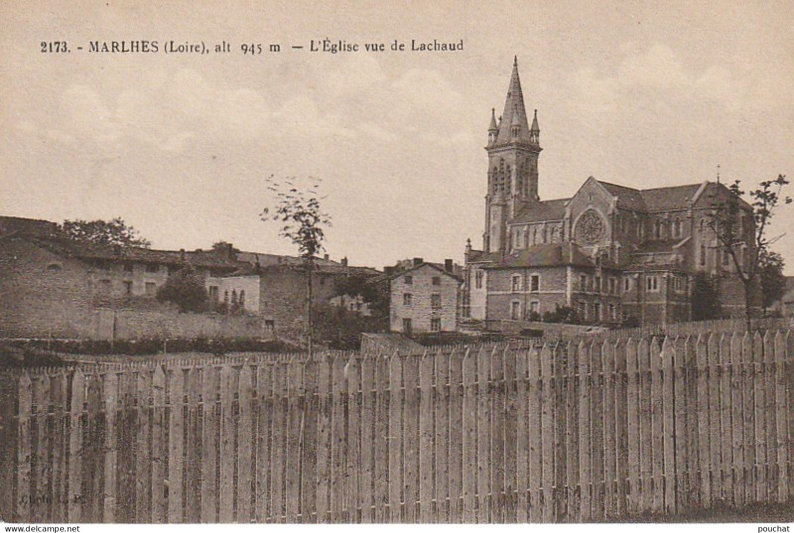
[[[417,333],[457,330],[461,278],[445,265],[414,259],[414,266],[389,277],[389,323],[392,331]]]

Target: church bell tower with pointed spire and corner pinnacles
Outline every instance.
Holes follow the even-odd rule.
[[[513,74],[507,99],[499,121],[491,110],[488,126],[488,194],[485,195],[485,232],[483,249],[498,252],[510,248],[507,221],[525,207],[538,202],[538,156],[541,153],[538,110],[532,126],[526,118],[518,59],[513,61]]]

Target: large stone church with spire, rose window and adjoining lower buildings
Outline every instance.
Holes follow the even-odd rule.
[[[743,286],[708,226],[730,197],[719,183],[635,189],[589,177],[571,198],[542,200],[538,111],[530,125],[518,61],[502,115],[491,110],[482,249],[465,249],[461,315],[663,325],[692,319],[699,272],[714,280],[723,315],[741,315]],[[742,240],[754,242],[742,203]],[[743,245],[744,246],[744,245]],[[741,250],[741,257],[750,257]]]

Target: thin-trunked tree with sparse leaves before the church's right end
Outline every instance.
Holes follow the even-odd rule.
[[[736,180],[728,187],[727,198],[713,199],[706,220],[717,238],[720,252],[730,257],[734,272],[744,286],[745,319],[750,330],[754,288],[761,282],[762,257],[777,240],[767,235],[769,223],[778,208],[792,203],[792,199],[783,194],[788,180],[782,174],[775,180],[762,181],[750,191],[749,204],[742,199],[745,191],[740,183]]]

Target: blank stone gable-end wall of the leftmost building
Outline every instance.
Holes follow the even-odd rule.
[[[20,238],[0,239],[0,336],[75,336],[91,294],[83,262]]]

